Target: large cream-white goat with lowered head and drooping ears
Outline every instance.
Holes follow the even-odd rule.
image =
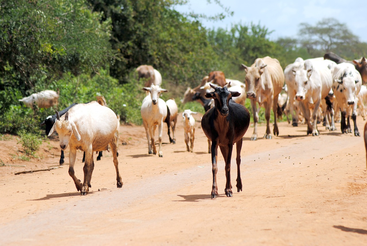
[[[77,104],[69,109],[63,116],[56,111],[57,120],[52,126],[48,136],[54,131],[59,134],[60,147],[65,150],[69,145],[69,175],[73,178],[76,189],[81,195],[87,195],[91,187],[91,177],[94,169],[93,152],[108,150],[111,146],[113,164],[116,168],[117,187],[121,188],[123,182],[119,173],[119,162],[117,160],[117,146],[115,132],[117,129],[116,114],[108,107],[92,101],[87,104]],[[80,149],[86,153],[84,163],[83,184],[75,176],[74,164],[76,150]]]

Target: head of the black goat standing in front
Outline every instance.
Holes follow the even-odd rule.
[[[229,100],[232,97],[238,97],[239,95],[241,95],[241,93],[237,91],[229,91],[227,88],[229,85],[230,82],[226,84],[223,88],[210,85],[214,89],[214,92],[209,92],[205,94],[207,98],[214,99],[215,108],[222,116],[227,116],[229,113]]]

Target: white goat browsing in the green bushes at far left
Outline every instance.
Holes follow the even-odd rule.
[[[24,102],[24,104],[31,109],[34,109],[34,105],[39,108],[50,108],[58,104],[59,94],[56,91],[46,90],[33,93],[28,97],[23,97],[19,99],[19,102]]]

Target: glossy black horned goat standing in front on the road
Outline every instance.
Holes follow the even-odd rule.
[[[228,84],[229,85],[229,84]],[[232,97],[238,97],[240,93],[229,91],[227,85],[223,88],[214,87],[214,92],[206,94],[207,98],[213,98],[215,107],[208,110],[201,119],[201,128],[211,145],[211,162],[213,173],[213,185],[211,199],[218,197],[217,186],[217,158],[218,146],[221,149],[226,171],[226,196],[232,196],[232,185],[230,182],[230,161],[232,158],[233,144],[236,143],[237,150],[237,192],[242,191],[240,175],[242,137],[250,124],[250,112],[241,104],[237,104]]]

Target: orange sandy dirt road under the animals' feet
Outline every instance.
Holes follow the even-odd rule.
[[[362,131],[365,122],[357,122]],[[236,192],[234,151],[233,197],[225,196],[219,154],[217,199],[210,199],[211,157],[200,122],[189,153],[179,117],[177,143],[163,145],[163,158],[148,155],[142,126],[121,126],[124,185],[116,188],[112,155],[104,152],[87,196],[69,177],[68,149],[62,168],[14,175],[58,166],[59,147],[53,137],[40,159],[24,162],[12,158],[22,146],[10,136],[0,141],[7,165],[0,166],[0,245],[367,245],[363,137],[342,135],[336,126],[329,132],[319,125],[312,137],[305,125],[283,122],[279,137],[257,141],[249,140],[250,127],[241,151],[243,191]],[[82,180],[81,158],[79,152],[75,169]]]

